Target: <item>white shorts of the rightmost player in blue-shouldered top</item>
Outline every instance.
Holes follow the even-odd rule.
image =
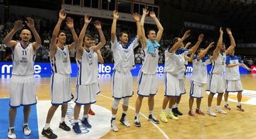
[[[226,92],[240,92],[243,91],[241,80],[226,80]]]

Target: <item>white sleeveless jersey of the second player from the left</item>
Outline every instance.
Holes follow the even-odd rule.
[[[71,74],[68,46],[64,46],[64,49],[57,47],[54,58],[50,59],[50,66],[52,73]]]

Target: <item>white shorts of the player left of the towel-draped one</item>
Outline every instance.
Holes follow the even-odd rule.
[[[114,70],[112,74],[112,97],[121,99],[133,96],[133,76],[130,72],[120,73]]]

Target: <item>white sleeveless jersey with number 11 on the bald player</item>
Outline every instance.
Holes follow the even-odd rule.
[[[22,42],[17,42],[12,51],[12,75],[32,75],[35,59],[32,43],[29,42],[25,48],[22,46]]]

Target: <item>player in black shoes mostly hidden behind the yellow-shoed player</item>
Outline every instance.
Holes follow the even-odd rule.
[[[186,62],[191,59],[191,56],[188,57],[187,55],[188,54],[191,54],[191,53],[195,53],[196,49],[199,48],[199,45],[200,43],[202,42],[202,39],[203,39],[203,34],[200,34],[199,35],[199,39],[198,41],[195,43],[195,46],[192,46],[191,49],[184,49],[184,44],[182,42],[182,45],[180,46],[180,48],[175,51],[175,53],[178,55],[178,58],[180,59],[180,62],[182,64],[186,64]],[[178,38],[179,39],[179,38]],[[177,40],[175,40],[177,41]],[[192,61],[192,60],[191,60]],[[181,94],[179,96],[176,96],[175,98],[175,103],[173,104],[173,107],[172,107],[172,112],[175,116],[178,116],[178,115],[182,115],[182,112],[180,112],[178,110],[178,104],[179,102],[181,101],[182,99],[182,94],[185,94],[186,93],[186,90],[185,90],[185,84],[184,84],[184,73],[185,73],[185,70],[186,70],[186,66],[183,66],[183,69],[180,70],[181,73],[178,73],[178,80],[179,80],[179,86],[180,86],[180,90],[181,90]],[[170,100],[171,101],[171,100]],[[169,106],[170,107],[170,106]],[[171,114],[171,113],[168,113],[168,114]]]

